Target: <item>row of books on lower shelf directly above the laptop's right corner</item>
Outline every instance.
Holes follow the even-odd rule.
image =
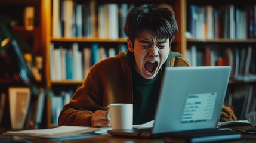
[[[236,80],[256,80],[256,49],[247,48],[198,48],[187,49],[186,58],[191,66],[231,66],[230,77]]]

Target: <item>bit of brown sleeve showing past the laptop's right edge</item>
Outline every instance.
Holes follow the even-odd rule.
[[[233,120],[238,120],[238,119],[236,119],[236,116],[231,110],[231,108],[223,105],[221,110],[221,115],[220,115],[220,122],[233,121]]]

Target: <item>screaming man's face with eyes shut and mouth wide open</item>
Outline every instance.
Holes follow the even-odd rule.
[[[144,30],[140,38],[134,40],[134,46],[128,39],[128,49],[134,52],[135,69],[145,79],[153,79],[168,58],[170,41],[158,39],[150,30]]]

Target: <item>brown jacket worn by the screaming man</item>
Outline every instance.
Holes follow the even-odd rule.
[[[132,52],[120,52],[92,66],[82,86],[61,110],[58,125],[91,126],[92,114],[99,105],[132,103],[132,60]],[[189,63],[181,54],[170,51],[163,66],[189,66]]]

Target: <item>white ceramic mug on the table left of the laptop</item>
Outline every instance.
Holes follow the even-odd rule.
[[[106,118],[113,130],[132,129],[133,105],[124,103],[110,104]]]

